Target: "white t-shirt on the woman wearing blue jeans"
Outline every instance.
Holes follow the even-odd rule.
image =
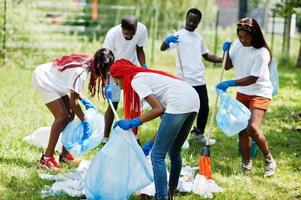
[[[195,89],[184,81],[161,74],[140,72],[134,76],[131,85],[141,100],[151,94],[155,95],[166,109],[166,113],[199,112],[199,96]]]

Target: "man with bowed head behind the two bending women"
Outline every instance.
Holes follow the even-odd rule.
[[[144,68],[147,68],[145,63],[145,54],[143,46],[147,42],[146,26],[137,21],[134,16],[126,16],[121,20],[121,24],[111,28],[106,34],[103,44],[104,48],[110,49],[115,60],[127,59],[134,64],[140,63]],[[114,108],[117,109],[120,100],[120,88],[116,85],[113,79],[110,79],[111,101]],[[109,139],[114,114],[110,106],[105,113],[105,129],[103,143]]]

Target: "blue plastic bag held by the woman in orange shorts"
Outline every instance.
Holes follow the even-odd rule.
[[[216,92],[220,95],[220,106],[216,115],[217,126],[227,136],[233,136],[247,128],[250,110],[226,92],[219,89],[216,89]]]

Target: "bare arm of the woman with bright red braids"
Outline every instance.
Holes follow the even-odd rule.
[[[152,107],[152,109],[149,112],[141,115],[140,121],[142,123],[155,119],[164,113],[165,109],[155,95],[148,95],[144,99]]]

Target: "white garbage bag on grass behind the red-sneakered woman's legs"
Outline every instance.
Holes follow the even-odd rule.
[[[31,144],[35,147],[42,147],[44,149],[48,146],[48,140],[50,136],[50,126],[40,127],[37,130],[35,130],[32,134],[26,136],[23,138],[23,141],[27,142],[28,144]],[[62,150],[62,142],[61,142],[61,136],[59,137],[55,150],[61,151]]]

